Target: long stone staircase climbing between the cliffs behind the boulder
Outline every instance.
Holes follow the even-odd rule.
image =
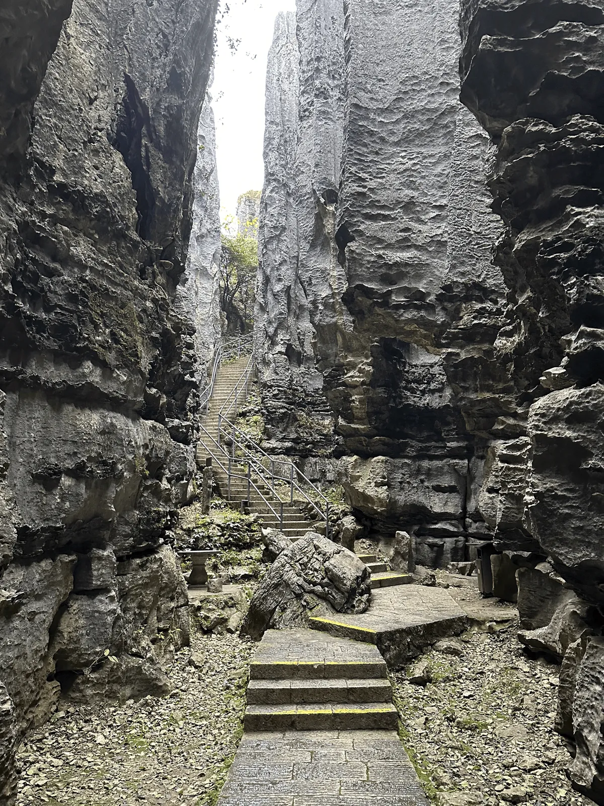
[[[210,400],[209,413],[202,422],[202,425],[205,427],[205,430],[209,433],[210,437],[215,440],[218,438],[218,414],[220,413],[222,406],[225,405],[225,402],[229,399],[231,393],[238,383],[238,380],[246,371],[249,360],[250,356],[244,355],[242,358],[235,359],[228,364],[221,364],[221,366],[218,368],[216,380],[214,382],[213,394]],[[241,397],[239,403],[241,404],[242,402],[243,399]],[[233,418],[234,413],[231,413],[230,417]],[[203,440],[204,437],[205,434],[202,434],[201,442],[199,442],[197,445],[197,463],[200,466],[205,465],[206,459],[211,457],[209,447],[212,447],[213,451],[215,452],[215,448],[211,443],[210,445],[205,445]],[[209,442],[207,437],[206,442]],[[221,459],[221,461],[224,464],[224,460]],[[260,495],[260,493],[256,492],[251,486],[250,491],[248,492],[248,485],[245,479],[231,478],[229,485],[227,473],[215,462],[213,463],[213,472],[214,479],[217,482],[218,490],[222,498],[234,503],[237,509],[239,509],[239,507],[242,505],[242,501],[246,501],[247,507],[251,513],[259,513],[259,515],[262,516],[263,526],[272,527],[273,529],[280,529],[280,517],[277,517],[275,513],[271,512],[271,509],[269,509],[266,502],[263,500],[264,496],[264,499],[270,501],[272,508],[275,509],[275,512],[280,516],[279,501],[273,499],[271,489],[267,487],[266,484],[263,484],[261,480],[253,477],[254,484],[256,484],[260,492],[262,492],[262,495]],[[241,465],[236,468],[235,472],[240,473],[241,476],[245,476],[246,467]],[[316,521],[312,521],[304,512],[304,509],[301,508],[300,502],[296,501],[295,499],[293,504],[291,503],[291,500],[284,501],[283,534],[293,541],[304,537],[304,534],[306,534],[309,530],[321,531],[324,533],[325,524],[323,522],[317,524]],[[408,574],[390,571],[387,563],[378,562],[378,559],[375,555],[359,556],[361,557],[363,563],[366,563],[366,566],[371,571],[372,588],[386,588],[391,585],[402,585],[412,581],[411,576]]]

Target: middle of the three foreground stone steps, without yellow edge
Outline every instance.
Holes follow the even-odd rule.
[[[304,703],[389,703],[392,687],[387,678],[250,680],[248,705]]]

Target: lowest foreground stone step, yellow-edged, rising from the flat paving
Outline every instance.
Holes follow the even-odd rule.
[[[399,715],[391,703],[248,705],[243,726],[265,730],[395,730]]]

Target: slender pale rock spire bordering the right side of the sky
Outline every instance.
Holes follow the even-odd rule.
[[[263,389],[268,436],[284,432],[301,391],[291,368],[304,354],[308,320],[297,273],[296,152],[300,54],[296,15],[279,14],[268,53],[264,189],[260,204],[255,351]],[[301,358],[300,358],[301,364]],[[296,373],[297,374],[297,373]]]

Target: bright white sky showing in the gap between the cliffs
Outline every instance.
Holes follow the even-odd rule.
[[[217,24],[214,83],[221,218],[234,215],[237,198],[262,190],[264,89],[275,16],[296,10],[296,0],[222,0],[230,10]],[[221,12],[218,13],[220,19]],[[235,52],[228,37],[241,42]]]

